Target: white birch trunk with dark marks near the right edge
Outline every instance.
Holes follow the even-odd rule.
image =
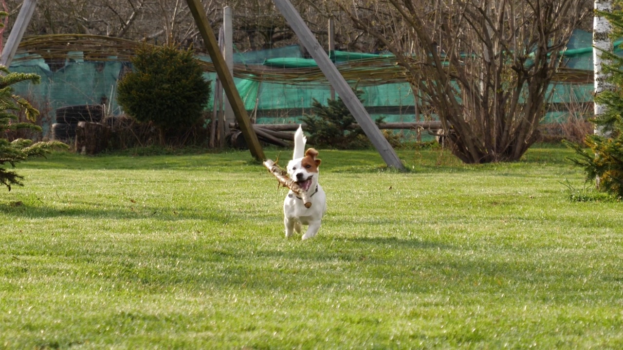
[[[612,0],[594,0],[594,8],[596,12],[593,19],[592,57],[595,78],[595,95],[597,95],[597,93],[604,90],[611,90],[614,88],[606,81],[607,75],[604,74],[601,69],[605,60],[601,57],[602,52],[612,52],[613,50],[612,40],[608,37],[608,35],[612,32],[612,24],[604,16],[600,16],[597,13],[597,11],[611,12]],[[595,102],[594,105],[595,117],[602,115],[606,109],[606,106],[597,102]],[[595,133],[601,135],[602,131],[599,130],[599,128],[596,128]]]

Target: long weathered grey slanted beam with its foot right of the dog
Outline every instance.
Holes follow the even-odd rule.
[[[305,25],[305,22],[303,22],[300,14],[298,14],[297,10],[292,6],[292,3],[289,0],[274,1],[277,9],[283,14],[286,21],[288,21],[290,27],[292,27],[293,31],[297,34],[298,39],[301,40],[302,44],[305,46],[305,49],[307,49],[313,59],[316,60],[320,70],[325,74],[325,77],[329,80],[331,86],[335,88],[338,95],[340,95],[344,104],[348,107],[348,110],[353,114],[363,132],[366,133],[366,136],[368,136],[374,148],[376,148],[376,151],[381,154],[385,163],[389,167],[404,171],[405,168],[400,158],[398,158],[396,152],[391,147],[391,144],[389,144],[388,140],[383,136],[381,130],[376,127],[376,124],[374,124],[374,121],[370,118],[366,108],[364,108],[350,85],[348,85],[344,77],[340,74],[340,71],[338,71],[333,62],[331,62],[331,59],[326,55],[325,50],[318,44],[318,40],[316,40],[312,31]]]

